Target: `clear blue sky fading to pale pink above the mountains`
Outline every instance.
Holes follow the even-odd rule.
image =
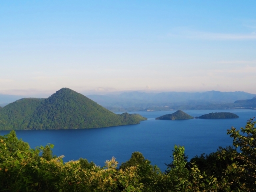
[[[256,94],[255,0],[0,1],[0,94]]]

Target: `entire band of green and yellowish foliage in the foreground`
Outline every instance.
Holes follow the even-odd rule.
[[[118,168],[113,157],[99,167],[80,158],[64,163],[52,144],[30,149],[14,131],[0,136],[0,191],[10,192],[252,192],[256,191],[256,122],[231,128],[233,146],[187,162],[184,147],[174,146],[173,161],[160,172],[140,152]]]

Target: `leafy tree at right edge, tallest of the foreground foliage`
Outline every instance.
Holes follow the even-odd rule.
[[[227,166],[225,177],[222,181],[222,188],[225,190],[256,191],[256,122],[248,120],[245,128],[236,130],[232,127],[228,134],[233,138],[234,150],[231,155],[222,151],[220,158],[234,160]]]

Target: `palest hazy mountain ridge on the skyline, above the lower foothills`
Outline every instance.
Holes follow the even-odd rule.
[[[231,103],[236,100],[251,99],[256,94],[246,92],[220,92],[220,91],[207,91],[207,92],[162,92],[162,93],[145,93],[145,92],[125,92],[122,94],[114,95],[88,95],[87,97],[102,104],[109,106],[112,103],[118,102],[150,102],[150,103],[178,103],[178,102],[210,102],[210,103]]]

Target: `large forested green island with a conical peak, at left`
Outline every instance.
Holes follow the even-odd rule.
[[[114,114],[86,96],[62,88],[46,99],[24,98],[0,109],[0,130],[78,129],[138,124],[139,114]]]

